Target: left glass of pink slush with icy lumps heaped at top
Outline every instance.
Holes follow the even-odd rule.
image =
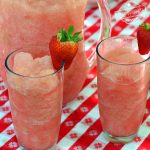
[[[11,113],[19,144],[53,149],[58,140],[63,100],[63,65],[54,70],[42,46],[12,52],[5,61]]]

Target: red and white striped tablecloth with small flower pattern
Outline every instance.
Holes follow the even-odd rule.
[[[116,15],[130,2],[122,15]],[[143,9],[126,24],[124,18],[131,16],[134,6],[147,7],[147,17]],[[112,0],[110,3],[112,14],[112,35],[136,35],[139,24],[150,23],[150,0]],[[135,11],[135,10],[134,10]],[[119,12],[119,13],[120,13]],[[132,18],[130,18],[132,19]],[[99,11],[95,6],[88,7],[85,16],[86,50],[96,46],[99,35]],[[87,53],[88,54],[88,53]],[[150,150],[150,98],[148,98],[143,123],[138,136],[128,144],[113,144],[104,138],[97,105],[96,66],[88,74],[85,84],[75,100],[63,108],[61,129],[57,144],[58,150]],[[150,94],[149,94],[150,96]],[[21,150],[14,133],[8,91],[0,78],[0,150]]]

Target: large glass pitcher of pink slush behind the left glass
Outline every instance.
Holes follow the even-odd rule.
[[[88,0],[0,0],[0,70],[4,81],[2,65],[8,53],[30,44],[48,46],[52,35],[62,27],[73,25],[76,31],[83,31],[87,3]],[[98,0],[97,4],[102,19],[101,40],[110,34],[110,13],[107,0]],[[64,104],[77,96],[94,62],[95,55],[87,58],[84,42],[80,42],[64,73]]]

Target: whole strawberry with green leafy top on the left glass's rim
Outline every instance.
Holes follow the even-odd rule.
[[[78,42],[83,39],[79,37],[80,33],[74,33],[74,27],[69,26],[68,31],[61,29],[51,38],[49,49],[55,69],[59,69],[63,61],[65,62],[64,68],[69,68],[78,51]]]

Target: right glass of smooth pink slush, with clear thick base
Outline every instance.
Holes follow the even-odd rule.
[[[145,112],[150,57],[137,50],[130,36],[108,38],[97,47],[100,118],[112,142],[131,141]]]

